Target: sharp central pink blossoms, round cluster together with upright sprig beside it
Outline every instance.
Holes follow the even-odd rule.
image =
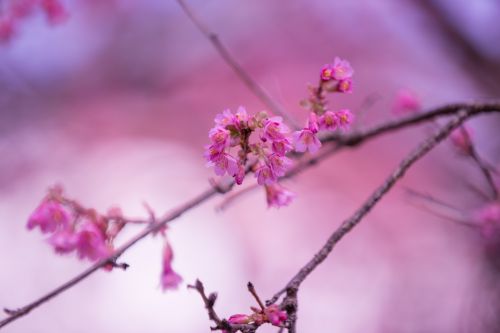
[[[279,184],[292,166],[286,155],[297,152],[314,153],[321,147],[317,137],[320,130],[348,129],[353,114],[348,109],[327,109],[326,93],[352,91],[353,70],[349,62],[335,58],[320,73],[318,87],[311,87],[310,98],[303,102],[311,112],[306,126],[290,134],[281,117],[272,117],[265,111],[249,115],[244,107],[233,114],[224,110],[215,117],[215,126],[208,136],[205,159],[218,176],[229,175],[241,185],[248,171],[253,172],[257,183],[264,186],[269,207],[290,204],[294,194]],[[249,170],[247,170],[249,167]]]

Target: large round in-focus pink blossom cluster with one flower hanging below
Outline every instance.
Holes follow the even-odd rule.
[[[266,188],[269,206],[290,203],[293,194],[278,184],[292,165],[286,154],[292,150],[288,127],[280,117],[266,112],[248,115],[240,107],[236,113],[225,110],[215,117],[215,126],[205,147],[208,166],[218,176],[229,175],[241,185],[248,171],[253,171],[257,183]]]

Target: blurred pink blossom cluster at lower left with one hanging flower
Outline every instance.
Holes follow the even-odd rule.
[[[43,234],[48,234],[47,241],[58,254],[74,252],[80,260],[98,261],[113,254],[115,238],[130,223],[151,221],[128,220],[119,208],[99,214],[66,198],[60,187],[54,187],[29,217],[27,228],[39,228]],[[160,230],[160,234],[166,239],[165,228]],[[175,288],[182,281],[172,269],[172,260],[172,248],[165,240],[160,280],[163,290]],[[106,269],[112,268],[112,262],[106,265]]]

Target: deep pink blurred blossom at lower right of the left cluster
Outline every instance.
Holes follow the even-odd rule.
[[[88,219],[83,220],[75,232],[75,249],[78,258],[91,261],[104,259],[113,252],[106,244],[104,231]]]

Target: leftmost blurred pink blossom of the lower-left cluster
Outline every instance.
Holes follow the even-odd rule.
[[[43,233],[54,232],[69,225],[70,213],[59,202],[44,200],[28,219],[29,230],[40,227]]]

